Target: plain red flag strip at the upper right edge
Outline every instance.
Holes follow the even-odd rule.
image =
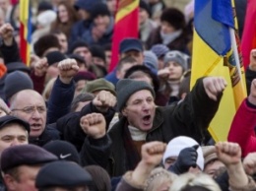
[[[246,69],[250,63],[250,52],[253,48],[256,48],[256,1],[248,0],[245,16],[245,23],[241,40],[241,51]]]

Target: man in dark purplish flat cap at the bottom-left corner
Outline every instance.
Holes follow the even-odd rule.
[[[43,164],[57,160],[45,150],[23,145],[7,148],[1,156],[1,170],[8,191],[35,191],[35,177]]]

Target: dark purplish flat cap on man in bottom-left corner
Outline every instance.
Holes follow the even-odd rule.
[[[19,165],[36,165],[58,158],[35,145],[20,145],[7,148],[1,155],[1,169],[6,172]]]

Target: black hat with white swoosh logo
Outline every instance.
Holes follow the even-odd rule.
[[[55,140],[48,142],[43,146],[47,152],[55,155],[58,159],[74,161],[80,164],[80,157],[77,149],[71,143]]]

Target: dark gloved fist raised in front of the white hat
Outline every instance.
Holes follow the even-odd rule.
[[[195,145],[191,148],[181,150],[178,158],[171,166],[169,166],[168,170],[175,174],[181,174],[187,172],[191,166],[196,167],[198,147],[198,145]]]

